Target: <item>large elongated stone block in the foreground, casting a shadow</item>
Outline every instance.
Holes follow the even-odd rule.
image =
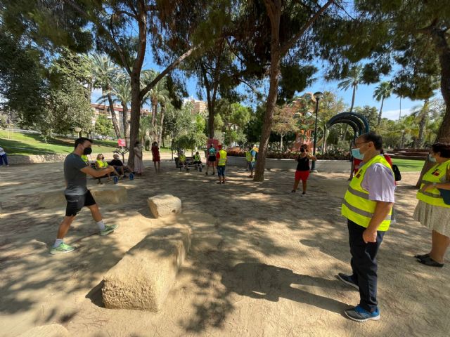
[[[148,234],[103,276],[105,307],[160,310],[190,246],[189,227],[163,227]]]

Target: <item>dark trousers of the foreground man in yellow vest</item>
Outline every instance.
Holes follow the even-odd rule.
[[[370,312],[377,308],[377,253],[385,232],[377,232],[377,242],[364,243],[366,228],[347,220],[353,279],[359,286],[359,305]]]

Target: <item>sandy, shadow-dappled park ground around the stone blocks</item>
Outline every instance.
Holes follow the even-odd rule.
[[[293,171],[267,171],[255,183],[228,167],[226,185],[217,185],[217,176],[180,172],[168,156],[162,173],[120,182],[129,189],[124,204],[100,205],[106,223],[120,224],[113,234],[99,237],[86,209],[66,238],[77,250],[59,256],[49,247],[64,209],[39,209],[37,197],[63,187],[62,164],[0,172],[0,336],[52,323],[77,337],[449,336],[450,268],[412,257],[430,246],[428,230],[411,218],[417,173],[402,174],[397,224],[378,255],[382,319],[359,324],[342,315],[359,293],[335,277],[350,270],[340,217],[346,175],[311,175],[303,198],[290,193]],[[162,192],[181,198],[184,213],[153,218],[146,198]],[[146,234],[174,223],[192,226],[193,243],[162,310],[103,308],[104,273]]]

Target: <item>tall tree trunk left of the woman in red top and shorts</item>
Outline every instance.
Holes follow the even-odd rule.
[[[278,96],[278,81],[280,76],[280,18],[281,1],[276,4],[265,1],[266,10],[271,21],[271,43],[270,43],[270,86],[267,95],[266,112],[264,113],[264,124],[262,125],[261,138],[259,140],[259,154],[256,162],[255,181],[264,181],[264,169],[266,166],[267,147],[269,145],[270,131],[274,119],[276,98]]]

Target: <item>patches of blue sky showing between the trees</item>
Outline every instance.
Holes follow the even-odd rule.
[[[155,65],[153,62],[153,55],[151,53],[147,53],[146,55],[146,62],[144,65],[144,69],[154,69],[158,71],[162,71],[163,68],[159,67],[158,65]],[[319,69],[321,69],[321,66],[318,66]],[[321,71],[317,72],[314,76],[316,78],[316,81],[314,83],[307,87],[304,92],[316,92],[316,91],[333,91],[338,97],[342,98],[344,102],[350,106],[352,103],[352,89],[349,88],[347,91],[342,91],[338,88],[338,81],[325,81],[323,74]],[[188,90],[188,94],[190,97],[193,97],[195,99],[198,99],[197,95],[197,79],[195,77],[186,78],[186,88]],[[386,77],[382,79],[383,81],[388,81],[390,78]],[[380,102],[377,102],[373,98],[373,91],[375,91],[375,87],[378,86],[378,84],[360,84],[358,86],[358,89],[356,91],[355,96],[355,102],[354,106],[364,106],[369,105],[373,107],[377,107],[377,109],[380,108]],[[440,95],[439,91],[436,91],[436,94],[438,96]],[[92,93],[91,100],[93,103],[96,102],[98,97],[100,97],[101,91],[94,91]],[[401,115],[404,116],[406,114],[410,114],[413,107],[416,107],[418,105],[422,105],[423,102],[421,101],[412,101],[409,98],[403,98],[401,100]],[[147,107],[148,108],[148,107]],[[392,95],[390,98],[387,98],[385,100],[385,103],[383,105],[383,117],[397,120],[399,119],[399,112],[400,112],[400,100],[396,95]]]

